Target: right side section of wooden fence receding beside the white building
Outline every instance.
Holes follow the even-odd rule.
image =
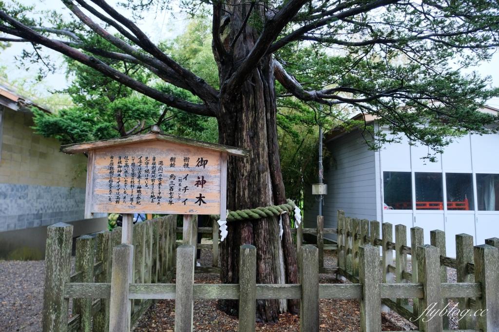
[[[353,283],[359,282],[359,247],[362,245],[370,244],[376,248],[381,249],[381,277],[383,284],[405,284],[421,282],[419,276],[419,264],[420,264],[420,251],[418,247],[424,245],[424,230],[420,227],[413,227],[410,229],[411,234],[411,247],[407,246],[407,228],[405,225],[395,226],[395,242],[393,242],[393,225],[390,223],[381,224],[381,234],[380,234],[380,223],[378,221],[368,221],[367,219],[359,220],[358,218],[345,217],[342,210],[338,210],[338,228],[337,228],[337,244],[338,244],[338,274],[345,277]],[[481,260],[477,261],[476,250],[477,248],[482,248],[483,246],[477,246],[474,249],[474,239],[473,236],[468,234],[458,234],[456,235],[456,258],[451,258],[446,256],[446,237],[445,232],[441,230],[433,230],[430,232],[430,244],[431,246],[439,249],[439,255],[437,257],[437,271],[438,278],[443,283],[447,283],[447,267],[457,270],[457,284],[452,287],[462,287],[463,293],[459,296],[443,296],[441,299],[441,307],[446,308],[449,303],[449,299],[456,303],[459,303],[458,309],[460,312],[465,310],[477,311],[483,307],[477,305],[479,298],[467,294],[465,285],[479,282],[478,279],[482,278],[478,276],[479,273],[476,272],[476,264],[483,264]],[[499,249],[499,238],[491,238],[485,240],[485,247],[491,246],[488,250],[492,250],[492,247]],[[480,249],[480,250],[482,250]],[[485,249],[484,249],[485,250]],[[475,251],[475,253],[474,253]],[[394,257],[395,253],[395,257]],[[408,272],[408,258],[407,255],[411,255],[411,271]],[[395,258],[395,264],[394,264]],[[495,264],[495,263],[494,263]],[[483,266],[480,267],[483,270]],[[482,271],[481,270],[481,271]],[[483,271],[481,272],[483,273]],[[492,273],[492,272],[491,272]],[[490,277],[491,280],[499,279],[499,270],[492,273]],[[395,280],[394,280],[395,277]],[[496,284],[498,281],[494,281]],[[471,284],[470,284],[471,285]],[[477,285],[477,284],[475,284]],[[478,286],[470,286],[478,287]],[[499,287],[499,286],[495,286]],[[483,287],[482,287],[483,289]],[[484,290],[484,289],[483,289]],[[499,288],[496,293],[488,294],[499,294]],[[485,294],[485,292],[483,293]],[[499,303],[498,296],[494,296],[495,301]],[[421,329],[420,321],[418,317],[424,312],[427,307],[426,302],[419,298],[413,298],[413,306],[409,306],[408,298],[394,297],[394,298],[383,298],[381,303],[387,308],[397,312],[402,317],[410,320],[416,326]],[[450,308],[449,308],[450,310]],[[494,317],[494,315],[491,315]],[[487,331],[499,331],[499,316],[495,322],[495,328],[497,330],[487,330]],[[442,317],[442,328],[444,330],[449,329],[449,317]],[[466,316],[459,321],[459,329],[463,331],[475,331],[478,329],[478,322],[476,318],[472,316]],[[426,330],[423,330],[426,331]],[[478,331],[478,330],[477,330]],[[484,330],[486,331],[486,330]]]

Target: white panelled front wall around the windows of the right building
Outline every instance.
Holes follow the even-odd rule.
[[[386,145],[381,151],[381,173],[383,171],[412,172],[413,206],[415,203],[414,173],[443,172],[443,190],[446,193],[445,173],[472,173],[476,182],[476,173],[499,173],[499,135],[466,135],[455,139],[437,156],[437,162],[421,159],[427,156],[428,148],[410,146],[407,139],[400,144]],[[430,231],[435,229],[446,232],[447,255],[456,255],[456,234],[473,235],[475,244],[483,244],[486,238],[499,236],[499,211],[478,211],[476,183],[474,183],[475,210],[470,211],[422,211],[422,210],[383,210],[383,222],[404,224],[410,228],[424,228],[425,243],[430,243]],[[444,204],[445,206],[446,204]]]

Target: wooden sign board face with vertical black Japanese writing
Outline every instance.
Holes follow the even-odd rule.
[[[213,153],[196,156],[195,153],[188,155],[189,152],[181,151],[175,155],[147,149],[127,148],[121,153],[113,151],[112,155],[97,157],[97,177],[94,177],[94,195],[97,198],[92,203],[96,207],[95,212],[108,212],[105,209],[110,207],[106,203],[115,206],[109,212],[120,213],[132,212],[121,209],[126,206],[136,207],[134,211],[153,213],[217,211],[212,212],[211,209],[219,206],[220,168],[217,163],[212,165]],[[140,155],[143,151],[146,151],[145,155]],[[194,163],[190,163],[191,159]],[[168,187],[166,196],[165,186]]]

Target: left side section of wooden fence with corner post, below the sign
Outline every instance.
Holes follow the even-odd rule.
[[[170,281],[175,264],[175,231],[173,215],[133,226],[133,284]],[[99,232],[96,238],[88,235],[77,238],[75,273],[70,275],[72,237],[71,225],[59,223],[47,228],[42,331],[107,332],[109,296],[88,297],[88,294],[95,288],[108,289],[114,282],[113,248],[122,241],[121,227]],[[68,319],[70,298],[72,318]],[[134,300],[129,317],[132,325],[151,303],[151,299]]]

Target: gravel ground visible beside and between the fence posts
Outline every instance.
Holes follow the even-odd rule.
[[[203,243],[205,239],[203,239]],[[211,264],[211,251],[202,250],[200,263]],[[74,258],[72,260],[74,270]],[[335,266],[336,257],[324,254],[324,265]],[[411,264],[408,266],[411,272]],[[196,283],[220,283],[216,274],[196,274]],[[319,275],[320,283],[338,283],[334,275]],[[448,268],[448,282],[456,282],[456,270]],[[175,282],[173,280],[172,282]],[[41,330],[44,261],[0,261],[0,331],[38,332]],[[409,300],[412,305],[412,300]],[[451,301],[450,308],[454,306]],[[71,301],[70,301],[71,307]],[[359,331],[358,300],[320,300],[320,331]],[[71,310],[71,309],[70,309]],[[451,329],[457,326],[457,316],[451,317]],[[216,309],[216,301],[195,301],[194,326],[201,331],[237,331],[238,321]],[[175,301],[161,300],[154,304],[134,327],[135,331],[173,332]],[[382,314],[383,331],[412,331],[416,327],[391,311]],[[257,331],[298,332],[299,317],[283,314],[277,324],[257,324]]]

